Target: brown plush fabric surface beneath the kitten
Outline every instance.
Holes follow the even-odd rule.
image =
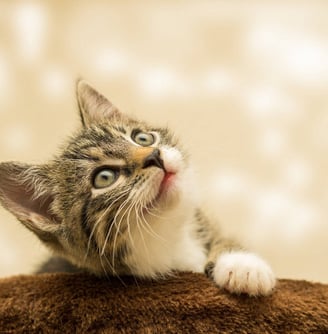
[[[42,274],[0,280],[1,333],[328,333],[328,285],[232,296],[201,274],[157,282]]]

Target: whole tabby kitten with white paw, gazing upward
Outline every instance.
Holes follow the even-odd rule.
[[[128,117],[84,81],[77,99],[82,127],[61,154],[42,165],[0,164],[7,210],[70,269],[205,272],[232,293],[272,292],[270,267],[199,208],[188,157],[168,129]]]

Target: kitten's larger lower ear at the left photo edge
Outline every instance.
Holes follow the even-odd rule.
[[[49,181],[41,167],[0,164],[0,203],[42,241],[58,244],[56,231],[60,224],[51,212],[52,201]]]

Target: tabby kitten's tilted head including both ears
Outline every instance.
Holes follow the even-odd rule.
[[[167,129],[121,113],[83,81],[77,100],[81,129],[55,159],[0,164],[0,202],[74,264],[134,273],[136,239],[160,234],[189,192],[187,159]]]

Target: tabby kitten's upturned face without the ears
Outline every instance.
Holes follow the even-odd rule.
[[[140,140],[144,137],[147,143]],[[76,222],[70,217],[80,218],[92,265],[100,253],[110,271],[128,270],[123,267],[133,251],[136,227],[179,203],[186,162],[173,137],[167,130],[128,119],[102,123],[83,130],[58,161],[66,177],[58,184],[61,196],[54,210],[65,212],[62,219],[70,222],[71,234]]]

